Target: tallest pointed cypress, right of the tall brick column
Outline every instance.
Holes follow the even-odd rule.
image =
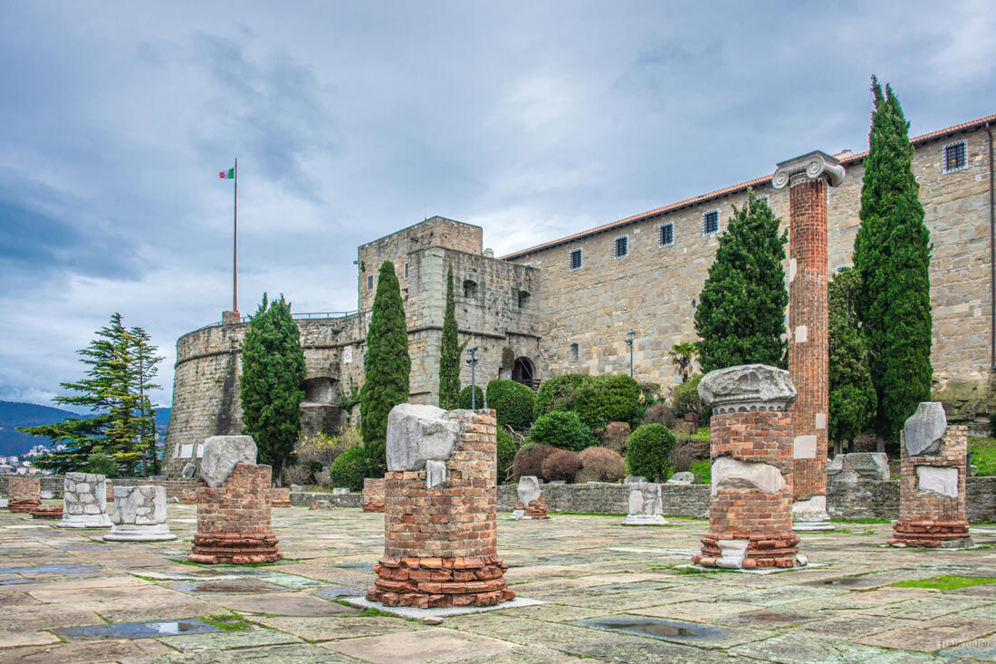
[[[868,341],[878,451],[916,405],[930,398],[930,236],[913,176],[909,123],[899,100],[871,78],[869,156],[862,188],[862,225],[855,238],[861,276],[858,313]]]

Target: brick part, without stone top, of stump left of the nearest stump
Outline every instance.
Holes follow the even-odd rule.
[[[270,467],[238,464],[217,488],[197,490],[197,534],[191,562],[207,564],[275,562],[270,514]]]

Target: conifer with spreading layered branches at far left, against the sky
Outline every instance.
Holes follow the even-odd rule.
[[[139,343],[133,333],[135,330],[144,335],[141,352],[149,358],[154,357],[155,348],[148,344],[148,336],[141,328],[125,329],[120,313],[111,316],[110,323],[97,331],[97,338],[90,346],[77,351],[82,356],[81,361],[89,366],[86,378],[77,383],[62,383],[63,389],[76,394],[56,397],[53,401],[87,408],[93,413],[91,417],[18,428],[26,434],[44,436],[54,444],[66,446],[65,450],[52,452],[36,461],[38,468],[60,474],[88,470],[92,459],[103,456],[105,459],[110,457],[125,475],[134,473],[135,464],[143,455],[138,444],[143,400],[134,382]]]

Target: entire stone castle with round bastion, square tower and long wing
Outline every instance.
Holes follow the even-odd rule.
[[[953,421],[978,426],[996,413],[993,125],[996,116],[989,116],[912,140],[933,243],[935,398],[946,402]],[[846,174],[828,194],[831,273],[851,264],[866,155],[835,157]],[[366,335],[384,260],[395,266],[405,304],[412,403],[436,403],[449,267],[460,340],[479,349],[479,385],[500,377],[535,387],[563,373],[625,373],[632,330],[634,377],[666,391],[680,382],[667,351],[695,339],[696,300],[717,238],[748,187],[767,198],[787,227],[789,189],[774,188],[768,174],[500,258],[484,249],[481,227],[439,216],[360,246],[358,310],[296,316],[307,363],[305,430],[334,432],[359,417]],[[247,327],[228,314],[177,341],[165,449],[170,477],[196,465],[205,438],[241,433],[239,348]],[[469,385],[469,367],[461,371],[461,383]]]

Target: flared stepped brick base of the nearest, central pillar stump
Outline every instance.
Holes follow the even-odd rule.
[[[505,584],[508,565],[497,555],[460,558],[384,556],[367,599],[384,606],[494,606],[515,597]]]

